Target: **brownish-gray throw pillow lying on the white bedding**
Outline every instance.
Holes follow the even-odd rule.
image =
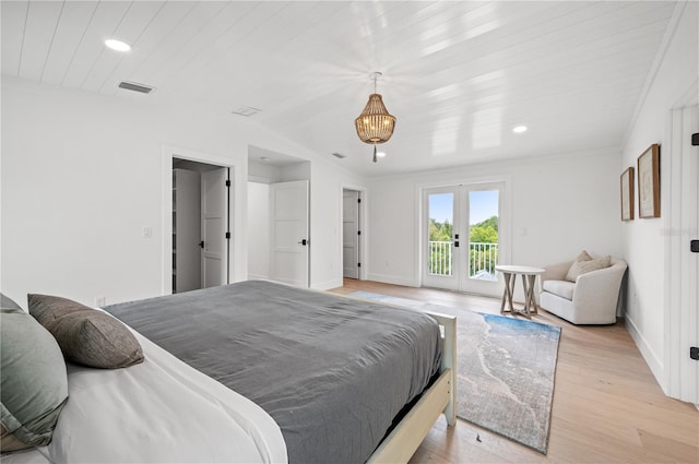
[[[133,334],[106,312],[48,295],[28,295],[29,313],[58,342],[66,359],[83,366],[117,369],[143,362]]]

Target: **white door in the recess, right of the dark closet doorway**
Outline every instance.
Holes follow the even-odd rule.
[[[270,278],[308,288],[308,180],[270,185]]]

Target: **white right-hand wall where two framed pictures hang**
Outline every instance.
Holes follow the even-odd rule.
[[[689,2],[676,11],[678,20],[667,47],[661,49],[660,66],[652,83],[642,95],[640,109],[623,151],[621,168],[637,166],[638,156],[651,144],[661,144],[661,217],[638,218],[624,224],[624,254],[629,263],[627,326],[651,370],[663,389],[665,384],[665,282],[663,271],[667,241],[666,218],[670,193],[670,110],[680,104],[699,79],[699,9]],[[696,97],[696,87],[694,87]],[[687,282],[686,285],[697,285]],[[696,310],[696,309],[695,309]]]

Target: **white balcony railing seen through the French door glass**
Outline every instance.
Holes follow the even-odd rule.
[[[428,272],[430,275],[452,275],[452,242],[429,241]],[[498,243],[469,243],[469,276],[484,281],[496,281],[495,265],[498,263]]]

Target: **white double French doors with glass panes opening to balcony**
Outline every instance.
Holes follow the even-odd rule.
[[[503,182],[423,192],[423,285],[499,295],[495,265],[502,249]]]

